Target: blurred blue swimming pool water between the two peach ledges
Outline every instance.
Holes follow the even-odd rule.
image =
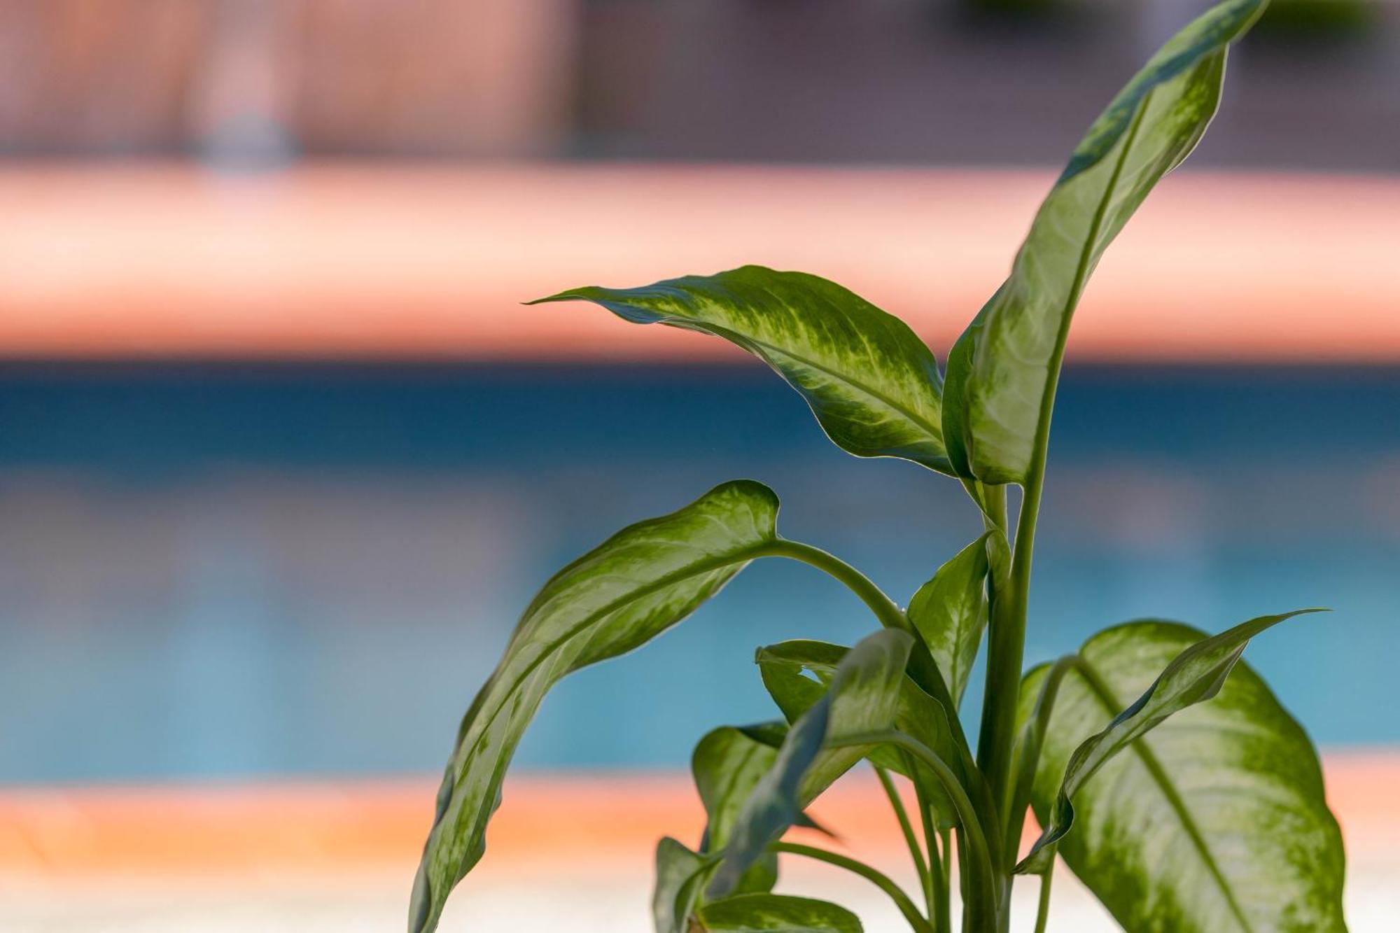
[[[1400,742],[1400,370],[1074,367],[1053,447],[1032,660],[1134,616],[1330,605],[1246,657],[1320,744]],[[10,364],[0,780],[437,769],[557,565],[736,476],[900,601],[979,528],[757,366]],[[755,646],[871,625],[755,566],[566,681],[519,761],[680,765],[770,716]]]

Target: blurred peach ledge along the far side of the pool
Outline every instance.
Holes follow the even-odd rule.
[[[745,262],[836,279],[942,354],[1050,172],[659,165],[0,168],[0,359],[727,360],[519,301]],[[1400,360],[1400,177],[1177,174],[1109,251],[1071,352]]]

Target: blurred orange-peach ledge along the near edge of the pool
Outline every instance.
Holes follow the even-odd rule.
[[[1400,751],[1337,752],[1324,763],[1348,852],[1393,855]],[[406,884],[434,790],[427,779],[0,790],[0,887],[141,877],[279,884],[385,873]],[[837,785],[813,814],[848,849],[899,857],[897,827],[865,775]],[[482,871],[645,870],[658,838],[693,842],[701,827],[680,773],[525,775],[507,783]]]

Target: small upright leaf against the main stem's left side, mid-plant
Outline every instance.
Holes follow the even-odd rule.
[[[993,534],[959,551],[909,602],[909,622],[924,639],[958,703],[987,628],[987,538]]]

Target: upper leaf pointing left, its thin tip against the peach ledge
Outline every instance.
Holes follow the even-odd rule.
[[[571,289],[539,301],[574,298],[634,324],[713,333],[743,347],[806,399],[847,452],[952,469],[932,352],[903,321],[834,282],[743,266],[640,289]]]

